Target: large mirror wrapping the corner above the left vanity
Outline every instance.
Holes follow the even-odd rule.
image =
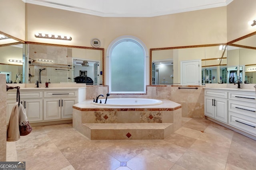
[[[104,49],[25,42],[0,32],[0,74],[6,83],[104,85]]]

